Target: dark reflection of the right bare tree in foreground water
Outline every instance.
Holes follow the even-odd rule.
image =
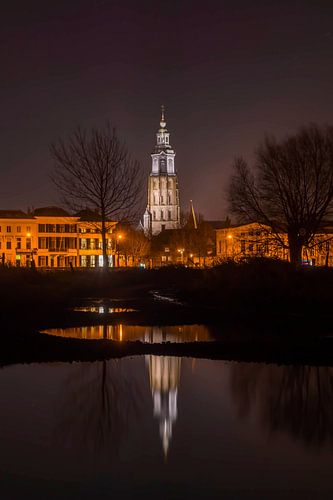
[[[240,416],[256,414],[271,432],[333,444],[333,368],[234,363],[231,389]]]

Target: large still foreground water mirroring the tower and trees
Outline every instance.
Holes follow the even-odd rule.
[[[325,367],[2,368],[1,498],[333,498],[332,396]]]

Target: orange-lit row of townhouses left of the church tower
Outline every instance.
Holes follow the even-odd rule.
[[[109,266],[115,263],[116,222],[108,223]],[[58,207],[26,214],[0,210],[0,256],[5,265],[39,268],[101,267],[100,222],[84,211],[70,215]]]

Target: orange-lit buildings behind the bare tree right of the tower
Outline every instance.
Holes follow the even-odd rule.
[[[287,235],[280,235],[287,244]],[[258,223],[216,229],[216,260],[240,261],[249,257],[289,259],[289,251],[279,244],[268,226]],[[309,247],[303,249],[303,263],[333,266],[333,231],[317,234]]]

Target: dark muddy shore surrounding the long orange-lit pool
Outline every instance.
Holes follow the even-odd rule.
[[[134,299],[117,303],[124,307],[136,306],[133,312],[96,314],[69,309],[45,311],[38,319],[27,324],[16,318],[3,327],[0,365],[16,363],[49,363],[107,360],[137,355],[165,355],[219,359],[239,362],[276,364],[306,364],[333,366],[333,337],[330,327],[321,336],[307,334],[303,322],[293,317],[272,316],[247,321],[225,318],[221,311],[182,307],[172,303],[156,303]],[[253,318],[252,318],[253,319]],[[267,321],[271,329],[267,333]],[[285,330],[288,323],[293,334]],[[31,322],[30,322],[31,323]],[[81,340],[54,337],[40,333],[47,328],[96,324],[172,325],[209,324],[217,332],[214,341],[148,344],[140,341]],[[325,318],[322,327],[326,324]],[[308,322],[307,325],[309,326]],[[317,325],[318,326],[318,325]],[[283,331],[283,334],[282,334]],[[313,328],[309,328],[313,332]]]

